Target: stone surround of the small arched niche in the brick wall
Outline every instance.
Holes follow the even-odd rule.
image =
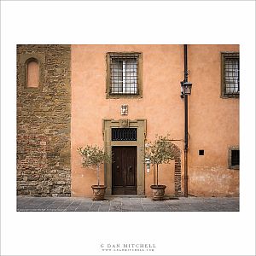
[[[38,63],[38,87],[27,87],[27,66],[31,61],[36,61]],[[24,90],[29,91],[40,91],[43,90],[44,86],[44,66],[45,66],[45,55],[41,53],[24,53],[19,56],[20,68],[20,82]]]

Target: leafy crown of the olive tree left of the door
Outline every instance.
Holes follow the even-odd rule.
[[[99,167],[103,163],[111,162],[111,157],[104,151],[104,148],[87,145],[84,148],[78,148],[78,151],[82,156],[84,167]]]

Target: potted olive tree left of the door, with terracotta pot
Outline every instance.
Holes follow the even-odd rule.
[[[96,169],[97,184],[92,185],[94,198],[93,200],[104,200],[105,185],[100,185],[100,166],[104,163],[111,162],[111,157],[104,151],[103,148],[98,146],[87,145],[84,148],[78,148],[79,154],[82,156],[82,165]]]

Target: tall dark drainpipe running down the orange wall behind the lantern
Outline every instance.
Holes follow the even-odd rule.
[[[188,82],[188,49],[187,44],[184,44],[184,82]],[[184,131],[184,196],[188,197],[188,95],[184,95],[185,108],[185,131]]]

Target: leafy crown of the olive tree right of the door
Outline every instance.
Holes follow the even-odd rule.
[[[152,165],[167,164],[174,160],[177,148],[171,141],[168,136],[156,136],[154,142],[147,143],[145,158],[148,158]]]

